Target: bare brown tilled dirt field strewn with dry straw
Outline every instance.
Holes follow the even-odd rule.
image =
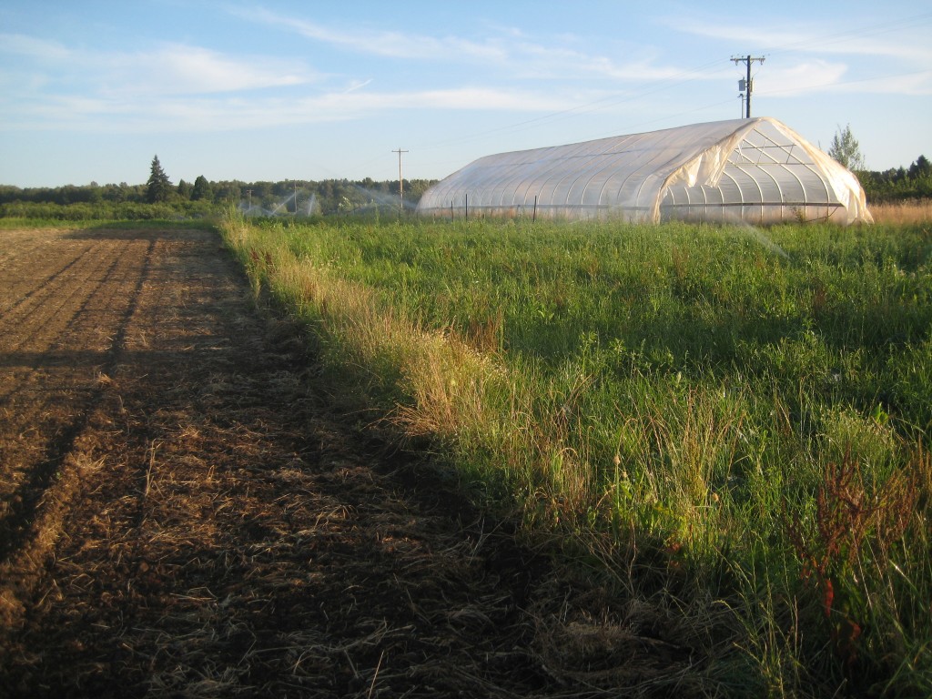
[[[0,231],[0,695],[696,688],[315,376],[213,233]]]

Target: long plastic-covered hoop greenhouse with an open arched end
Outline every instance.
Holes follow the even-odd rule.
[[[871,223],[857,177],[770,117],[479,158],[426,191],[418,212],[653,223]]]

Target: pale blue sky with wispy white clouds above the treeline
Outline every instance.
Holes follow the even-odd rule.
[[[0,184],[442,178],[741,116],[870,169],[932,158],[932,5],[5,0]]]

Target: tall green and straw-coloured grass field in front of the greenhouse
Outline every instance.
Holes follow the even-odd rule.
[[[226,237],[351,409],[691,610],[721,691],[932,695],[927,226]]]

